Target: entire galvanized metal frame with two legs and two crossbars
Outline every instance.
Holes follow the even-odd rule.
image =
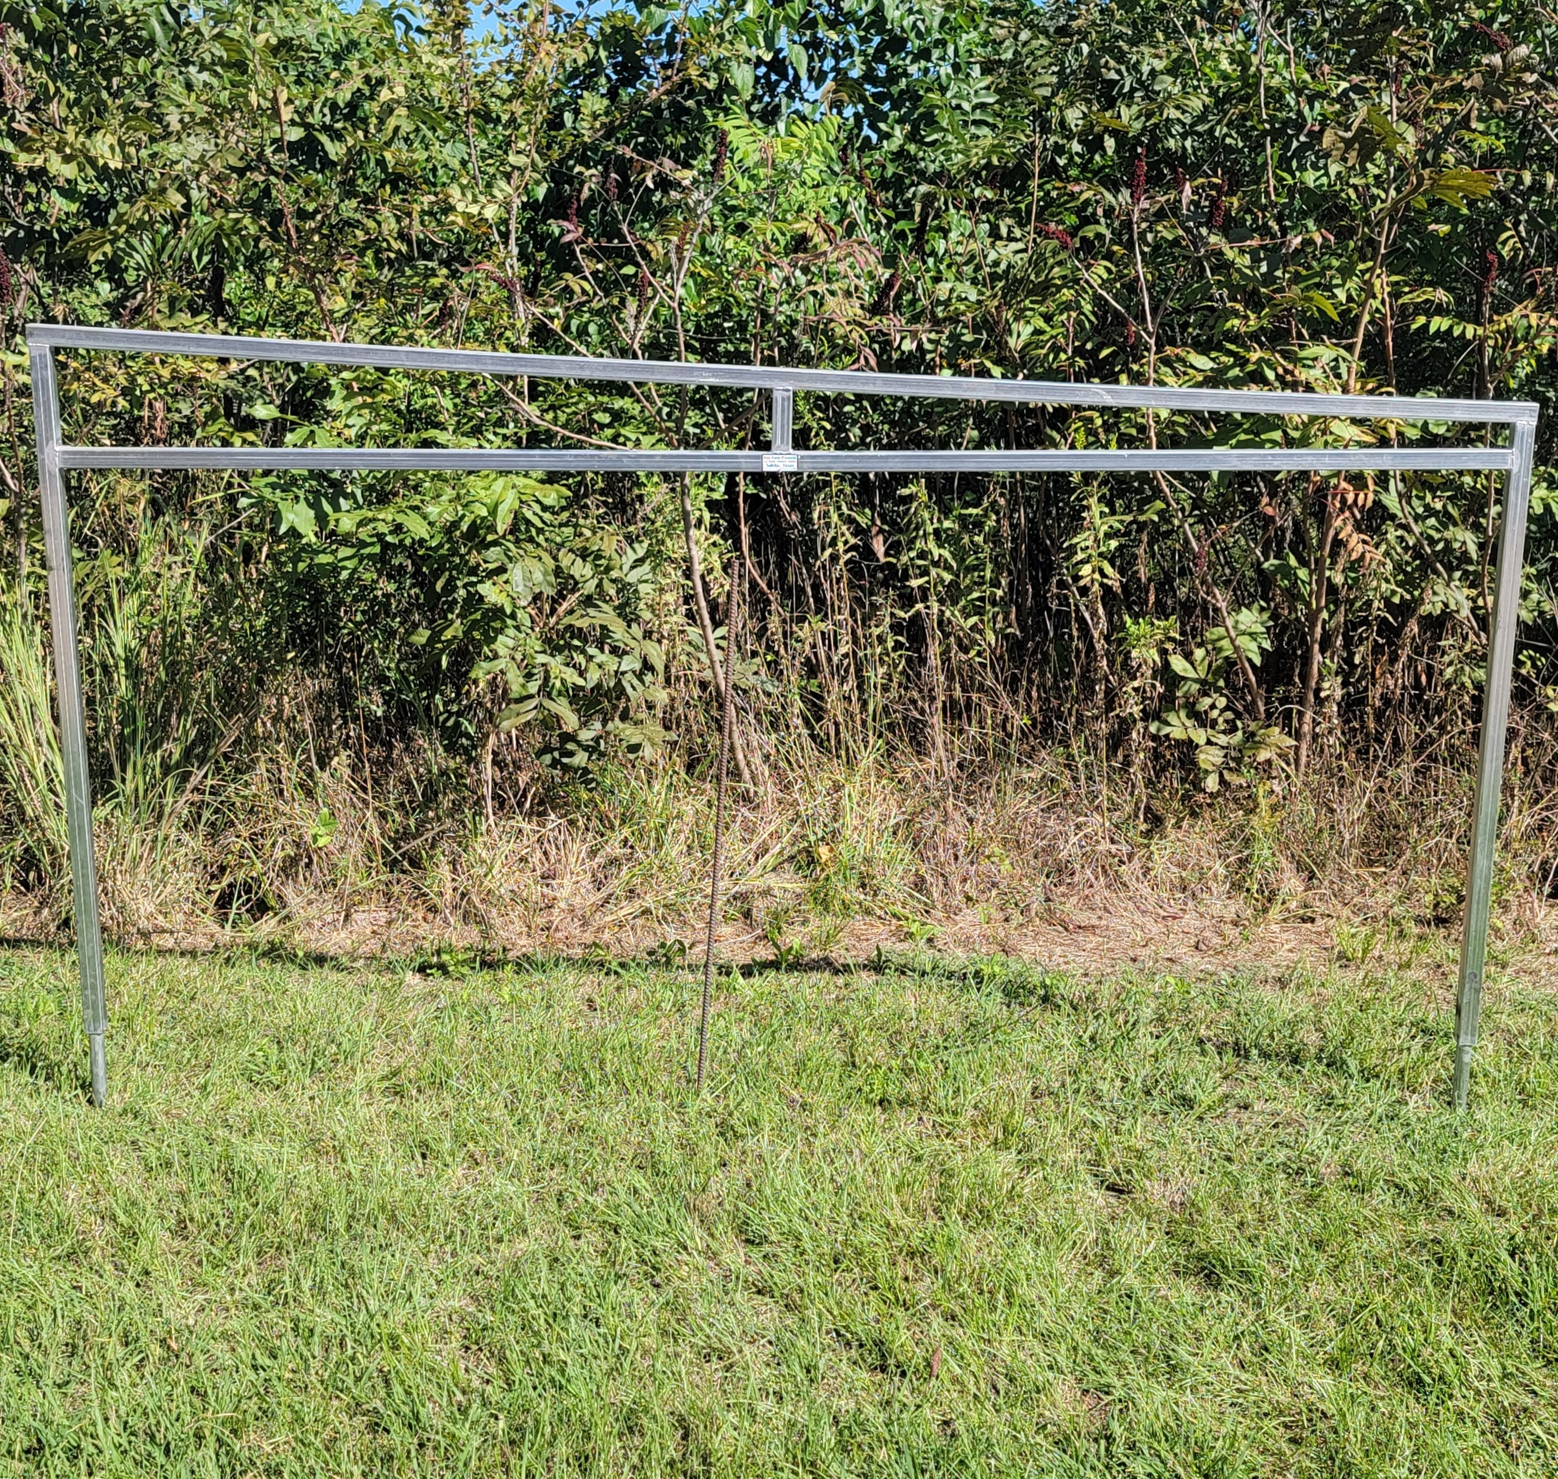
[[[81,960],[83,1022],[92,1054],[92,1100],[104,1102],[108,999],[98,920],[97,860],[92,849],[92,793],[87,778],[86,708],[72,575],[65,472],[73,468],[329,469],[449,472],[1449,472],[1503,474],[1503,524],[1488,675],[1483,697],[1477,800],[1472,814],[1460,990],[1455,1007],[1455,1103],[1463,1108],[1482,1010],[1488,946],[1488,905],[1503,779],[1510,676],[1519,619],[1525,514],[1530,505],[1536,407],[1517,401],[1332,396],[1298,391],[1181,390],[1144,385],[1073,385],[1042,380],[871,374],[745,365],[687,365],[654,360],[597,360],[552,354],[489,354],[471,349],[413,349],[390,344],[329,344],[232,338],[210,334],[157,334],[136,329],[78,329],[31,324],[26,330],[37,422],[37,474],[48,550],[48,597],[59,687],[70,871],[76,948]],[[379,369],[453,371],[481,376],[619,380],[654,385],[707,385],[767,391],[770,446],[759,452],[687,452],[598,447],[76,447],[61,439],[56,349],[344,365]],[[1369,422],[1440,422],[1508,427],[1507,446],[1396,447],[1190,447],[1178,450],[1033,452],[802,452],[791,446],[795,394],[922,396],[1027,405],[1095,405],[1164,411],[1231,411],[1248,416],[1324,416]]]

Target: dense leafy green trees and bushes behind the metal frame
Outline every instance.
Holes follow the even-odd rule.
[[[1541,5],[42,0],[0,17],[0,810],[25,876],[62,842],[28,319],[1535,399],[1517,711],[1522,732],[1552,723],[1558,22]],[[737,393],[109,355],[65,357],[62,383],[79,441],[767,435],[767,405]],[[840,447],[1454,433],[796,408],[799,446]],[[400,785],[411,810],[467,784],[523,806],[648,751],[696,765],[732,577],[757,768],[785,734],[949,773],[1081,745],[1142,798],[1292,787],[1323,762],[1410,785],[1469,754],[1499,514],[1475,475],[79,475],[75,500],[100,787],[164,820],[277,747],[341,757],[369,795]]]

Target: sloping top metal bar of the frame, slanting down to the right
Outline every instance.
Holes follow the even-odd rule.
[[[379,369],[446,369],[466,374],[538,376],[564,380],[631,380],[656,385],[729,385],[851,396],[932,396],[1033,405],[1098,405],[1253,416],[1355,416],[1373,421],[1522,422],[1536,418],[1524,401],[1452,401],[1432,396],[1332,396],[1310,391],[1190,390],[1156,385],[1089,385],[1061,380],[986,380],[972,376],[901,376],[860,369],[787,369],[765,365],[701,365],[665,360],[597,360],[566,354],[495,354],[483,349],[421,349],[399,344],[332,344],[318,340],[162,334],[150,329],[79,329],[28,324],[28,344],[117,349],[227,360],[361,365]]]

